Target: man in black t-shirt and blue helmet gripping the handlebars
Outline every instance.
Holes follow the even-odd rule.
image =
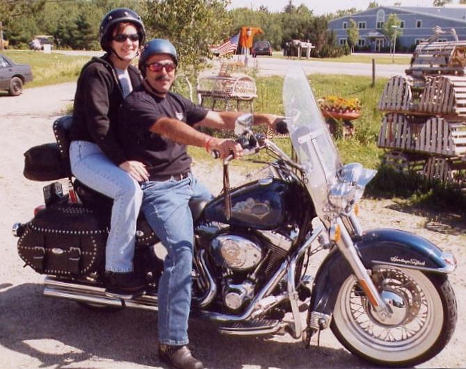
[[[216,150],[222,158],[241,156],[241,145],[234,140],[194,128],[233,129],[241,113],[210,111],[170,92],[177,65],[177,51],[168,40],[145,44],[138,65],[144,81],[120,108],[118,136],[125,154],[146,165],[149,181],[141,185],[142,209],[168,251],[158,290],[159,356],[176,368],[203,368],[186,346],[194,238],[188,202],[209,200],[211,194],[191,174],[186,145]],[[275,128],[279,120],[277,115],[255,114],[255,124]]]

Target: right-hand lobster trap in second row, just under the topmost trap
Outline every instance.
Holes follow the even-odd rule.
[[[466,116],[466,76],[428,78],[418,109],[431,114]]]

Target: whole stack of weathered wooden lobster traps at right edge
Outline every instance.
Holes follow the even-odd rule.
[[[465,65],[466,42],[422,43],[405,76],[389,79],[378,101],[387,165],[466,188]]]

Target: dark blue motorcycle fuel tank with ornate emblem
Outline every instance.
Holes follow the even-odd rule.
[[[259,179],[231,192],[232,218],[225,216],[225,197],[220,195],[204,209],[207,222],[222,222],[254,229],[277,229],[296,216],[296,186],[280,179]]]

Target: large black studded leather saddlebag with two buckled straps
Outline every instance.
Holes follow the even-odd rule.
[[[41,274],[86,277],[104,268],[107,222],[81,204],[61,201],[26,224],[19,256]]]

